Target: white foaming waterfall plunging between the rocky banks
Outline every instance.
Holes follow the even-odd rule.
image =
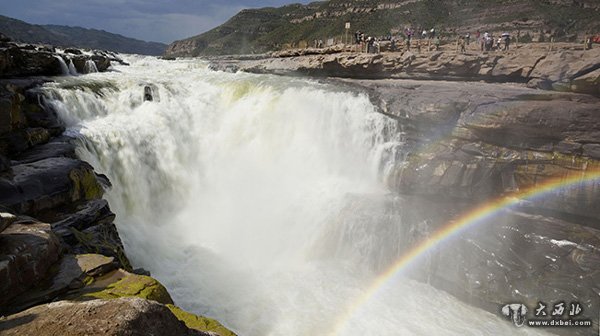
[[[401,211],[380,182],[400,157],[395,124],[332,85],[128,61],[45,93],[110,177],[133,263],[240,335],[331,332],[405,234],[376,215],[390,200]],[[144,101],[147,85],[160,100]],[[371,301],[340,333],[534,334],[408,279]]]

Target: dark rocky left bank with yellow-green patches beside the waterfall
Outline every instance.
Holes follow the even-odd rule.
[[[76,67],[110,65],[71,52]],[[76,140],[62,135],[36,90],[51,80],[39,76],[62,73],[62,57],[6,41],[0,48],[0,334],[233,336],[132,269],[102,199],[110,181],[77,158]]]

